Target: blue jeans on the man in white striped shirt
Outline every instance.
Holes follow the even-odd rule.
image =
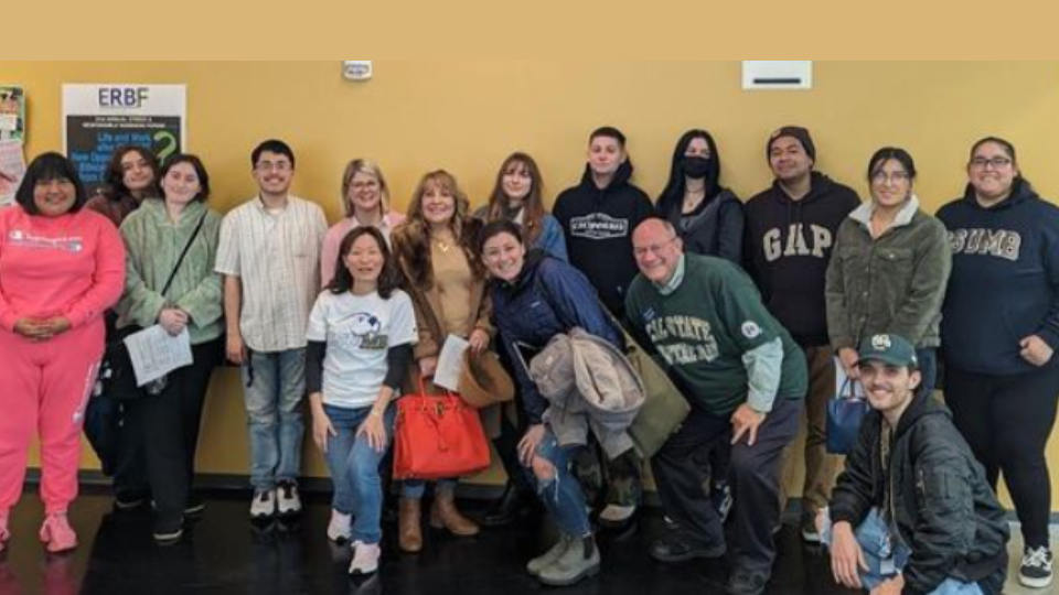
[[[243,392],[250,433],[250,485],[275,489],[301,474],[306,432],[301,400],[306,393],[306,350],[250,351],[243,365]]]

